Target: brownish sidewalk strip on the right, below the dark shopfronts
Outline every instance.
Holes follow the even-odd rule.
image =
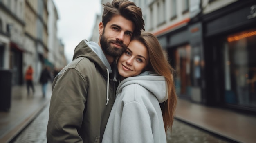
[[[237,143],[256,143],[256,116],[179,99],[176,119]]]

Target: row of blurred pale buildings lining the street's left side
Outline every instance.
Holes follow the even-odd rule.
[[[52,0],[0,0],[0,69],[12,71],[13,85],[24,84],[29,65],[38,83],[43,66],[67,64],[57,20]]]

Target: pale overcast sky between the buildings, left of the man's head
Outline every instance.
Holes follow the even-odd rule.
[[[101,0],[53,0],[58,11],[58,38],[64,44],[68,63],[74,48],[83,39],[89,40],[97,14],[101,14]]]

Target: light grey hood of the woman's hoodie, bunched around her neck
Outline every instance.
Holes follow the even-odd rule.
[[[164,76],[145,71],[135,77],[127,77],[121,81],[117,87],[117,94],[121,93],[122,89],[130,84],[139,84],[140,86],[143,86],[157,97],[159,103],[168,99],[168,89],[166,87],[167,84]]]

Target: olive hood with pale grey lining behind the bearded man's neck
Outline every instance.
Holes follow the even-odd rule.
[[[111,66],[104,55],[101,47],[95,42],[82,40],[75,48],[73,60],[78,57],[86,57],[92,62],[98,64],[103,71],[108,68],[109,73],[112,73]]]

